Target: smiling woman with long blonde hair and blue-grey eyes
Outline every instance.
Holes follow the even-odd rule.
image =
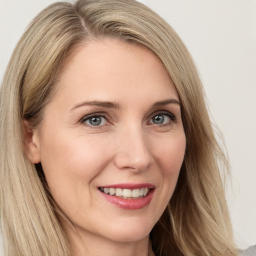
[[[0,93],[5,255],[237,255],[196,68],[146,6],[50,5]]]

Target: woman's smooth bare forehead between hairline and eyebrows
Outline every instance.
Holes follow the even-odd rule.
[[[171,78],[154,53],[141,45],[110,38],[88,41],[69,54],[56,87],[59,92],[69,88],[71,94],[74,89],[81,95],[102,92],[101,97],[111,92],[154,89],[156,93],[164,89],[177,97]]]

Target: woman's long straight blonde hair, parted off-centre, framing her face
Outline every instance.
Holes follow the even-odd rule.
[[[181,101],[186,152],[175,191],[150,238],[156,255],[236,255],[220,150],[195,65],[173,29],[134,0],[57,2],[29,24],[0,89],[0,214],[6,256],[72,255],[40,164],[24,149],[23,121],[36,126],[67,54],[90,38],[144,45],[172,78]],[[221,165],[221,163],[223,163]]]

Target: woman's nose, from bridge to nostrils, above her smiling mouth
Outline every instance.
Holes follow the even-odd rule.
[[[129,127],[120,132],[115,155],[115,165],[119,169],[130,169],[136,172],[147,169],[153,162],[150,151],[150,140],[141,127]]]

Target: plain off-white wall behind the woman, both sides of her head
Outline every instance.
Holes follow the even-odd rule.
[[[256,0],[140,0],[188,47],[229,154],[237,246],[256,243]],[[0,0],[0,80],[28,22],[53,0]]]

